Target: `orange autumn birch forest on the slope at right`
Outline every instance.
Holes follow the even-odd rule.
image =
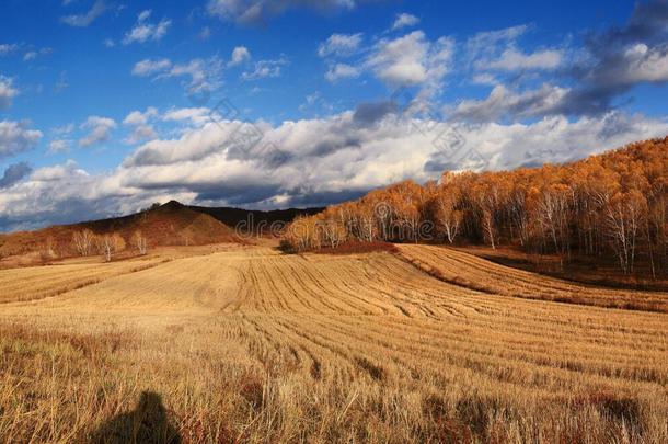
[[[281,244],[297,252],[346,242],[508,246],[574,258],[614,257],[624,274],[668,273],[668,137],[564,163],[411,180],[297,218]]]

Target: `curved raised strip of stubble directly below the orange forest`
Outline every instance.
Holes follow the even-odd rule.
[[[612,289],[575,284],[434,246],[398,246],[401,255],[454,285],[488,294],[597,307],[668,312],[668,293]]]

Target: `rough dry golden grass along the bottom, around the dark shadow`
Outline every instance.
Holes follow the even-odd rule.
[[[142,394],[161,398],[171,437],[182,442],[659,443],[668,436],[665,394],[583,387],[527,398],[491,394],[475,380],[398,380],[368,361],[360,363],[368,372],[350,383],[323,378],[324,368],[300,371],[289,355],[270,357],[268,350],[263,363],[249,354],[262,339],[233,322],[196,325],[168,328],[160,338],[112,326],[56,332],[3,325],[0,436],[115,442],[114,433],[141,423],[133,414]]]

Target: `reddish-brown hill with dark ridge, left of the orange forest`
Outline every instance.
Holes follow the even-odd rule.
[[[241,221],[251,221],[254,227],[263,220],[267,224],[289,223],[299,214],[309,215],[320,210],[321,208],[273,212],[207,208],[186,206],[171,201],[123,217],[0,235],[0,260],[9,257],[25,257],[23,259],[26,263],[34,263],[41,255],[53,258],[74,255],[77,252],[72,238],[76,232],[85,229],[96,236],[119,235],[126,243],[129,243],[133,236],[140,231],[149,247],[243,242],[243,239],[235,234],[235,227]]]

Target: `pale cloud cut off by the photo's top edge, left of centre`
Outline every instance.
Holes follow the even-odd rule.
[[[315,10],[352,10],[359,0],[209,0],[207,12],[238,23],[255,24],[278,15],[289,8]]]

